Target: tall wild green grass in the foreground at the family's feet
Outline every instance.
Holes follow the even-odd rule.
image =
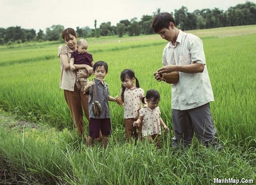
[[[3,123],[3,120],[1,121]],[[213,184],[214,178],[254,179],[255,148],[231,145],[218,152],[194,142],[186,150],[163,149],[148,142],[120,142],[116,133],[105,150],[87,148],[75,131],[27,128],[17,133],[1,125],[0,158],[19,184]],[[12,137],[9,134],[12,133]]]

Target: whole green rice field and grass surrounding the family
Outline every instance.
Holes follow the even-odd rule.
[[[123,109],[110,102],[113,135],[109,147],[93,148],[73,130],[60,76],[58,44],[0,48],[0,183],[16,184],[213,184],[214,178],[256,176],[255,78],[256,26],[190,31],[204,41],[215,102],[211,110],[224,149],[174,151],[173,132],[163,133],[163,148],[127,143]],[[170,86],[154,80],[166,41],[158,35],[90,38],[94,61],[109,65],[111,95],[119,94],[120,72],[134,69],[141,87],[160,92],[163,120],[172,129]],[[11,56],[11,57],[10,57]],[[6,112],[29,121],[20,124]]]

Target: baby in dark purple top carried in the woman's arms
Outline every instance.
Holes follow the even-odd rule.
[[[84,39],[80,39],[77,42],[77,50],[71,53],[70,57],[70,70],[75,71],[76,68],[74,64],[87,64],[93,67],[93,55],[87,52],[88,43]],[[86,69],[81,69],[86,74],[88,71]],[[87,77],[90,77],[91,74],[88,74]],[[81,84],[81,92],[84,92],[84,87],[87,85],[87,78],[77,78],[77,81]]]

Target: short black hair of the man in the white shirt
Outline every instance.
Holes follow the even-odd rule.
[[[170,23],[173,23],[175,27],[176,23],[172,15],[168,12],[162,12],[157,14],[152,22],[152,29],[155,33],[158,33],[162,28],[169,29]]]

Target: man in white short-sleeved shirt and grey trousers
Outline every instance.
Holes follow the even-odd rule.
[[[163,68],[154,73],[155,79],[161,81],[162,73],[179,73],[179,81],[172,84],[172,146],[186,148],[195,133],[200,143],[221,150],[210,112],[214,97],[202,40],[178,29],[166,12],[154,17],[152,28],[169,41],[163,50]]]

